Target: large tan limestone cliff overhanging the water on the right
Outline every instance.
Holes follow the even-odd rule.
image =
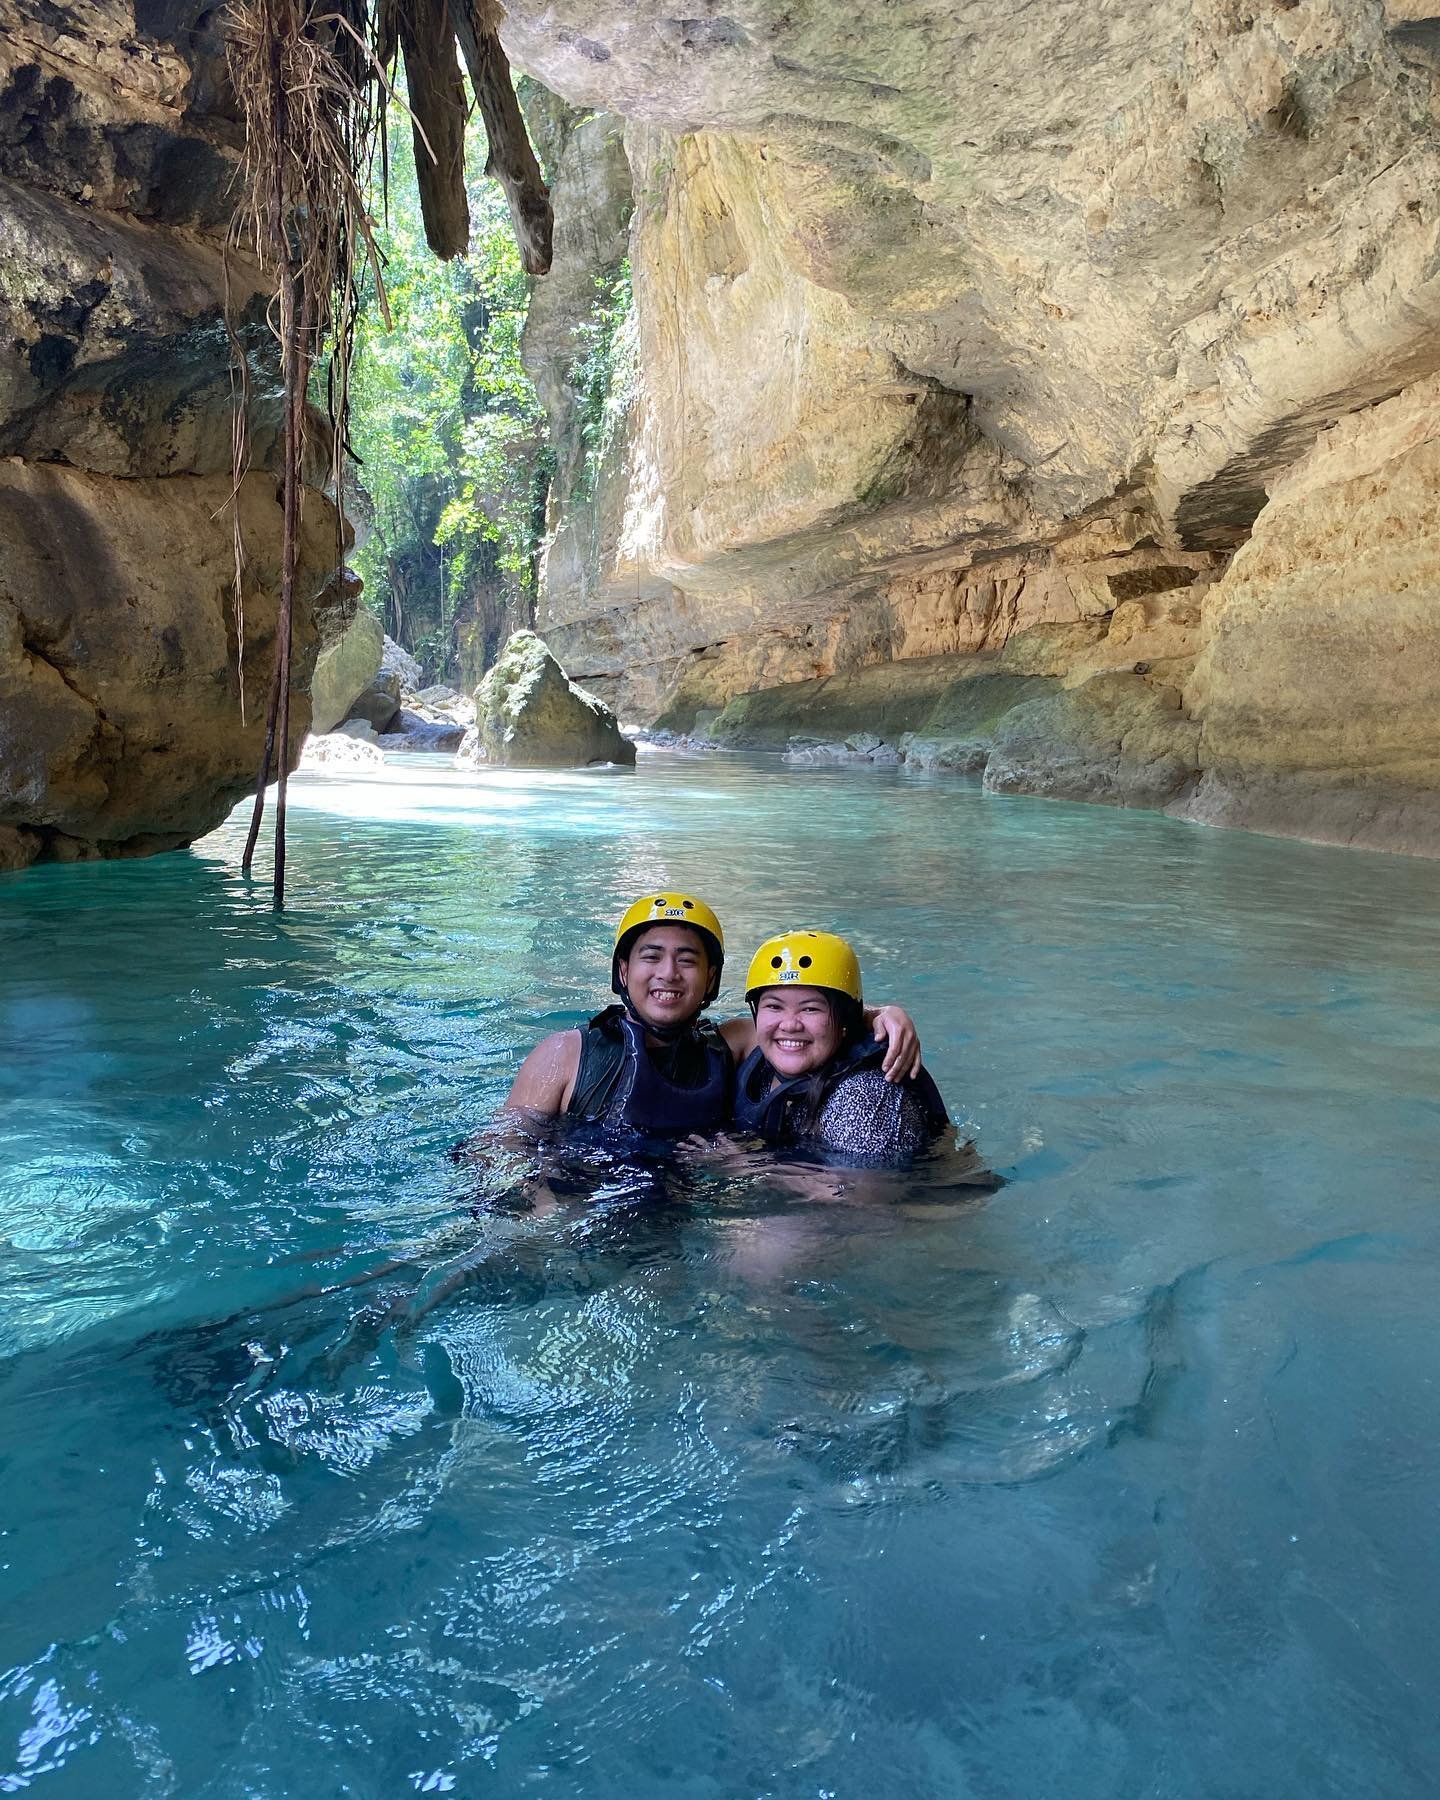
[[[1055,684],[994,787],[1440,848],[1422,7],[509,0],[502,36],[626,122],[639,383],[553,520],[567,666],[686,727],[794,688],[806,729],[815,682],[963,659]],[[1406,446],[1341,479],[1381,403]]]

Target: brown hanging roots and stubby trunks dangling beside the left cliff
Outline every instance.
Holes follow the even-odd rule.
[[[470,238],[464,193],[464,88],[455,61],[459,36],[490,137],[490,173],[504,185],[531,274],[551,266],[549,189],[535,160],[509,63],[497,36],[493,0],[230,0],[230,83],[245,128],[238,203],[227,238],[225,322],[234,367],[232,506],[236,509],[236,664],[245,722],[245,545],[239,486],[248,468],[250,367],[230,308],[229,257],[259,263],[272,283],[268,324],[284,376],[281,601],[275,666],[265,716],[265,751],[256,778],[256,806],[241,868],[248,873],[265,815],[272,772],[275,808],[275,905],[284,900],[284,799],[290,774],[290,650],[295,623],[302,470],[311,425],[310,376],[329,346],[329,484],[335,495],[337,569],[344,554],[344,455],[349,421],[349,373],[360,317],[360,284],[369,270],[389,328],[365,189],[376,144],[383,144],[387,68],[396,47],[414,112],[425,234],[441,257],[457,256]]]

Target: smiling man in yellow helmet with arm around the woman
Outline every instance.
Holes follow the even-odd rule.
[[[610,956],[621,999],[580,1031],[553,1031],[520,1064],[506,1111],[607,1123],[644,1136],[722,1130],[734,1066],[754,1048],[754,1021],[702,1017],[720,992],[725,934],[695,895],[644,895],[625,911]],[[920,1062],[914,1026],[898,1006],[868,1013],[886,1042],[884,1075],[904,1080]]]

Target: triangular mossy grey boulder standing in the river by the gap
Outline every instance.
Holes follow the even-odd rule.
[[[616,715],[565,675],[535,632],[515,632],[475,689],[475,725],[461,763],[576,769],[634,763],[635,745]]]

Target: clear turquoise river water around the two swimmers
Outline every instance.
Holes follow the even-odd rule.
[[[0,1793],[1433,1795],[1440,866],[745,760],[292,792],[283,918],[238,824],[0,882]],[[1010,1184],[468,1219],[661,884],[731,1001],[851,934]]]

